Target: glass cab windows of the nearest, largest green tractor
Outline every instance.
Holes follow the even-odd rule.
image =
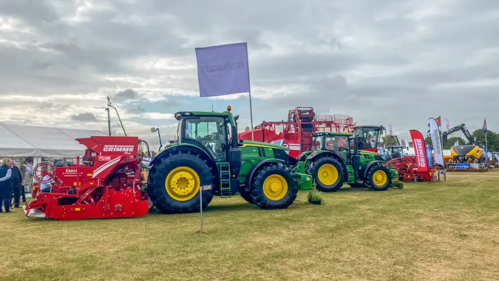
[[[216,158],[224,158],[227,143],[227,126],[223,117],[186,119],[183,138],[195,139],[213,151]]]

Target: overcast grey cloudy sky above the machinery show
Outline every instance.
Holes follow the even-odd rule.
[[[0,0],[0,121],[107,131],[106,96],[152,143],[199,97],[195,47],[248,42],[253,120],[287,109],[427,130],[499,130],[498,0]],[[119,132],[115,113],[113,127]]]

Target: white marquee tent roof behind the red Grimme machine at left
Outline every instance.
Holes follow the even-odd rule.
[[[0,156],[83,156],[85,146],[75,138],[106,135],[100,130],[13,125],[0,122]]]

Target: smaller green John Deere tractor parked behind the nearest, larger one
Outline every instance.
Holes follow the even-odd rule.
[[[381,154],[360,150],[361,142],[349,133],[311,135],[312,150],[298,156],[293,171],[312,175],[319,191],[338,191],[344,182],[352,187],[387,190],[392,178],[398,178],[397,170],[388,168]]]

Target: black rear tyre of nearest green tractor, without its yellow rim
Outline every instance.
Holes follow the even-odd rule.
[[[190,151],[170,153],[149,170],[147,178],[147,192],[154,202],[154,205],[163,213],[185,213],[197,212],[200,208],[199,185],[196,195],[188,200],[181,201],[168,194],[165,187],[165,181],[168,174],[177,167],[189,167],[199,176],[200,185],[212,184],[212,190],[203,190],[203,209],[213,199],[213,189],[215,188],[215,176],[212,167],[208,165],[207,160],[202,159],[198,154]]]

